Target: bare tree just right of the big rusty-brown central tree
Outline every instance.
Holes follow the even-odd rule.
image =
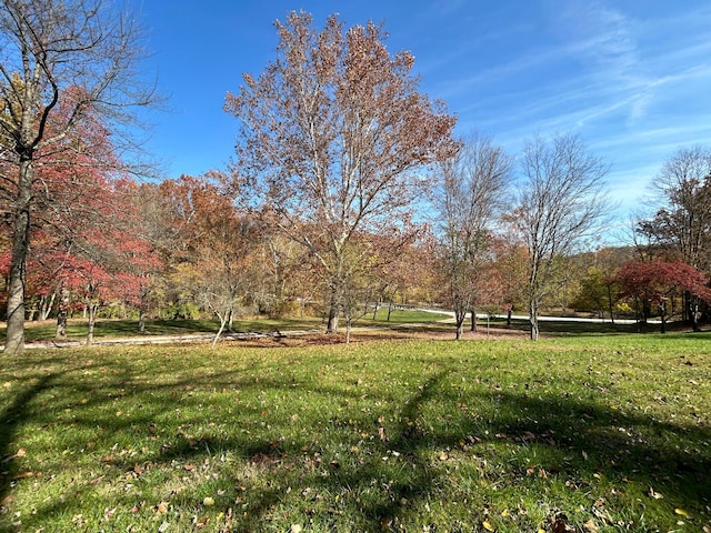
[[[513,159],[487,137],[473,135],[442,164],[438,198],[441,269],[445,298],[454,311],[457,339],[468,312],[475,321],[478,293],[490,258],[490,232],[505,204]]]

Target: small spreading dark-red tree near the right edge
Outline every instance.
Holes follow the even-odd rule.
[[[709,278],[681,261],[629,261],[611,280],[620,285],[620,298],[633,298],[638,304],[657,305],[661,332],[665,332],[668,303],[675,294],[689,292],[693,298],[711,302]]]

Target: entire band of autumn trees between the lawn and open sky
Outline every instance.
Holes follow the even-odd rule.
[[[468,313],[523,311],[532,339],[550,309],[707,318],[708,147],[671,154],[650,177],[654,214],[611,248],[607,163],[582,139],[538,137],[521,154],[458,139],[381,27],[292,13],[276,60],[227,93],[230,168],[141,180],[121,137],[154,100],[132,76],[140,29],[101,1],[2,6],[7,351],[23,349],[26,320],[57,319],[61,338],[80,313],[227,330],[239,313],[316,313],[334,332],[400,302],[454,310],[458,338]]]

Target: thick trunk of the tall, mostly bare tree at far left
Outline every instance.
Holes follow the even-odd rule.
[[[8,322],[4,351],[24,351],[24,281],[30,249],[30,205],[32,203],[33,165],[31,155],[20,159],[18,192],[12,220],[12,259],[8,281]]]

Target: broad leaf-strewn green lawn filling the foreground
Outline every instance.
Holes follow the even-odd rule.
[[[709,334],[0,355],[0,531],[709,532]]]

